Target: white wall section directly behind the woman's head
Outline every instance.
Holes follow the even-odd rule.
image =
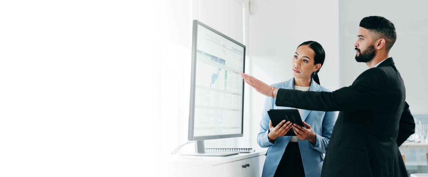
[[[304,41],[318,41],[326,51],[319,77],[322,86],[339,88],[338,1],[256,0],[250,14],[250,57],[254,77],[268,84],[291,78],[291,58]],[[251,94],[253,141],[256,142],[265,97]],[[316,101],[316,100],[314,100]]]

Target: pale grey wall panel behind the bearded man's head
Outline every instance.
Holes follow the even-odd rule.
[[[413,114],[428,113],[428,12],[425,0],[339,1],[340,86],[350,86],[365,63],[355,61],[354,43],[361,19],[383,16],[395,25],[397,41],[389,56],[394,59],[406,86],[406,100]]]

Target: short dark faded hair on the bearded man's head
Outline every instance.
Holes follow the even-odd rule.
[[[374,40],[384,38],[385,49],[389,51],[397,39],[394,24],[380,16],[369,16],[360,21],[360,27],[366,28],[372,33]]]

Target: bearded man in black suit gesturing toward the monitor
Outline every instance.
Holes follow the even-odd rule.
[[[322,177],[407,177],[398,147],[414,133],[403,80],[389,58],[395,27],[379,16],[363,18],[354,44],[357,62],[369,69],[349,87],[333,92],[272,88],[241,74],[245,82],[277,106],[340,111],[330,138]],[[302,131],[295,125],[293,129]]]

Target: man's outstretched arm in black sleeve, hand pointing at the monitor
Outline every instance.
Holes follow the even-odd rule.
[[[241,74],[245,82],[266,96],[276,97],[277,106],[287,106],[315,111],[352,111],[377,109],[386,106],[386,77],[380,69],[369,69],[355,80],[354,84],[342,89],[325,91],[298,91],[272,89],[256,78]],[[277,91],[277,92],[276,92]]]

